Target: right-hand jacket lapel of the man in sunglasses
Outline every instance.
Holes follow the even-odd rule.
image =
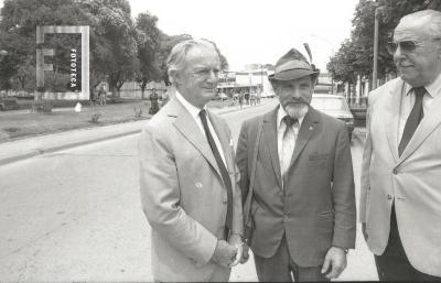
[[[430,109],[432,110],[430,116],[428,115],[422,118],[405,151],[399,157],[398,163],[402,163],[410,154],[412,154],[421,145],[426,138],[429,137],[429,134],[431,134],[441,123],[441,111],[433,111],[434,109],[440,109],[440,107],[441,95],[438,95],[430,106]]]

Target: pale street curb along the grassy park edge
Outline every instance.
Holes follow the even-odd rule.
[[[255,106],[255,107],[260,107],[260,106],[263,106],[263,105],[258,105],[258,106]],[[226,111],[219,111],[219,112],[217,112],[217,115],[237,112],[237,111],[245,110],[245,109],[248,109],[248,108],[250,108],[250,107],[238,108],[238,109],[229,109],[229,110],[226,110]],[[6,164],[10,164],[10,163],[13,163],[13,162],[18,162],[18,161],[35,157],[37,155],[43,155],[43,154],[46,154],[46,153],[53,153],[53,152],[57,152],[57,151],[62,151],[62,150],[68,150],[68,149],[73,149],[73,148],[77,148],[77,146],[82,146],[82,145],[87,145],[87,144],[93,144],[93,143],[103,142],[103,141],[107,141],[107,140],[118,139],[118,138],[122,138],[122,137],[127,137],[127,135],[131,135],[131,134],[137,134],[137,133],[140,133],[141,131],[142,131],[142,129],[130,130],[130,131],[125,131],[125,132],[110,134],[110,135],[106,135],[106,137],[101,137],[101,138],[96,138],[96,139],[90,139],[90,140],[79,141],[79,142],[65,143],[65,144],[58,145],[58,146],[52,146],[52,148],[47,148],[47,149],[44,149],[44,148],[43,149],[37,149],[37,150],[33,150],[33,151],[31,151],[29,153],[15,155],[15,156],[12,156],[12,157],[0,159],[0,166],[1,165],[6,165]]]

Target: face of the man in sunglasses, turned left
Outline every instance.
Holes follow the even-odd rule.
[[[394,33],[394,42],[415,42],[415,50],[398,45],[394,62],[401,78],[413,87],[426,86],[441,72],[441,41],[430,35],[427,26],[410,21],[400,23]]]

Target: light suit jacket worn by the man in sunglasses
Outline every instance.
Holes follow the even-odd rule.
[[[383,254],[395,203],[398,231],[410,263],[441,276],[441,95],[424,115],[401,156],[398,120],[404,80],[396,78],[369,94],[363,154],[359,218],[367,244]]]

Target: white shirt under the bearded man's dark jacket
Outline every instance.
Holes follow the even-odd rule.
[[[300,126],[303,122],[303,118],[301,117],[299,119],[298,123],[292,124],[292,130],[294,131],[294,139],[289,141],[289,150],[288,154],[283,154],[283,134],[284,131],[287,130],[287,124],[283,121],[283,117],[287,116],[287,112],[284,111],[283,107],[280,105],[279,106],[279,111],[277,112],[277,149],[278,149],[278,154],[279,154],[279,162],[280,162],[280,170],[282,171],[281,174],[283,174],[283,161],[291,161],[292,153],[294,152],[295,148],[295,141],[297,137],[299,134],[299,129]],[[288,155],[288,156],[284,156]]]

